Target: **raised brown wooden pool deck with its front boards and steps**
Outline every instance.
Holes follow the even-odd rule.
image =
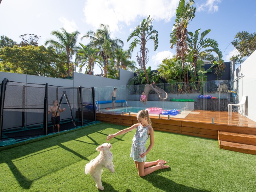
[[[232,117],[230,117],[228,116],[228,112],[194,110],[193,113],[189,113],[185,118],[171,117],[167,119],[167,117],[161,117],[159,119],[158,116],[150,117],[152,127],[157,131],[173,132],[216,140],[218,140],[221,132],[229,132],[229,134],[226,133],[225,140],[219,140],[220,148],[256,154],[255,140],[252,140],[252,138],[256,137],[256,122],[238,113],[232,113]],[[212,124],[212,118],[214,118],[214,124]],[[96,120],[126,125],[127,127],[138,123],[135,114],[129,116],[128,114],[96,113]],[[238,139],[238,137],[236,137],[236,139],[234,134],[235,136],[240,134],[242,139]],[[242,141],[240,142],[239,140]],[[230,141],[233,141],[233,144],[230,144]],[[225,147],[225,145],[228,146]],[[240,147],[237,147],[237,145]],[[247,148],[250,148],[250,150],[247,150]]]

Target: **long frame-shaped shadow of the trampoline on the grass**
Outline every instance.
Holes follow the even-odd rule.
[[[9,149],[0,151],[0,156],[1,156],[0,164],[6,163],[9,166],[9,169],[12,171],[13,176],[19,182],[20,187],[23,189],[29,189],[34,180],[38,180],[39,178],[42,178],[48,174],[51,174],[52,172],[57,172],[58,170],[62,169],[63,167],[69,166],[70,164],[74,164],[78,161],[88,160],[86,157],[97,152],[95,150],[95,145],[99,145],[92,137],[90,137],[88,135],[92,134],[92,133],[96,133],[96,134],[100,133],[99,131],[101,131],[103,129],[107,129],[107,128],[109,128],[109,124],[105,124],[105,123],[104,124],[96,124],[96,125],[92,125],[89,127],[84,127],[84,128],[78,129],[74,132],[67,132],[66,134],[56,135],[54,137],[45,138],[44,140],[39,140],[36,142],[32,142],[32,143],[28,143],[28,144],[21,145],[18,147],[9,148]],[[120,125],[111,124],[111,128],[121,130],[124,127],[120,126]],[[100,133],[100,134],[103,134],[103,133]],[[81,135],[87,136],[90,140],[92,140],[93,143],[87,143],[87,142],[84,142],[81,140],[77,140],[78,138],[81,138]],[[97,137],[98,136],[96,135],[95,138],[97,138]],[[106,137],[106,139],[107,139],[107,137]],[[69,146],[67,147],[62,144],[62,143],[65,143],[65,142],[68,142],[71,140],[75,140],[77,142],[83,142],[86,145],[86,147],[85,146],[83,146],[83,148],[76,147],[77,150],[75,151],[74,149],[69,148]],[[115,142],[118,142],[119,140],[122,140],[122,139],[118,139]],[[90,145],[88,145],[88,144],[90,144]],[[24,160],[24,159],[26,159],[28,157],[32,157],[32,156],[34,158],[38,158],[37,156],[39,154],[49,152],[49,151],[53,151],[52,153],[54,153],[54,150],[59,147],[47,150],[47,148],[52,148],[53,146],[59,146],[60,148],[66,150],[68,152],[71,152],[74,156],[79,157],[78,160],[77,160],[77,158],[73,158],[72,161],[69,161],[66,163],[62,162],[61,164],[58,164],[58,166],[55,166],[53,169],[47,170],[46,173],[37,175],[37,177],[35,179],[28,179],[24,174],[22,174],[22,172],[24,172],[24,170],[19,170],[19,167],[16,167],[16,165],[13,163],[14,161],[16,162],[16,161]],[[85,148],[86,148],[86,150],[84,150]],[[42,151],[42,152],[38,152],[38,151]],[[52,158],[54,159],[54,157],[52,157]],[[41,169],[49,169],[48,165],[43,166],[43,168],[38,167],[37,169],[30,169],[29,162],[27,162],[27,163],[28,163],[27,168],[32,173],[35,173],[35,172],[40,173],[40,172],[42,172]],[[33,163],[33,162],[30,162],[30,163]],[[26,172],[26,171],[25,171],[25,174],[34,175],[34,174],[30,174],[29,172]],[[10,185],[11,185],[11,183],[10,183]],[[107,183],[106,183],[106,186],[108,188],[113,189],[113,187]],[[114,191],[114,189],[111,191]]]

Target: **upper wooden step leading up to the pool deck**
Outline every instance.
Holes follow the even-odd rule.
[[[256,146],[256,135],[219,131],[219,140]]]

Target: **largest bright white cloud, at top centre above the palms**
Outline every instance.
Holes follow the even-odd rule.
[[[84,5],[85,22],[95,29],[107,24],[111,32],[119,31],[122,25],[130,26],[138,17],[168,22],[176,15],[179,0],[86,0]],[[139,24],[139,23],[138,23]]]

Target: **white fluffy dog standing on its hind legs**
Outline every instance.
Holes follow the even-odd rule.
[[[106,167],[112,173],[115,172],[113,165],[113,156],[110,152],[112,145],[110,143],[103,143],[99,147],[96,148],[97,151],[100,151],[100,155],[98,155],[95,159],[92,159],[90,163],[85,165],[85,174],[90,173],[92,179],[96,183],[96,187],[100,190],[103,190],[103,186],[101,183],[101,174],[102,168]]]

